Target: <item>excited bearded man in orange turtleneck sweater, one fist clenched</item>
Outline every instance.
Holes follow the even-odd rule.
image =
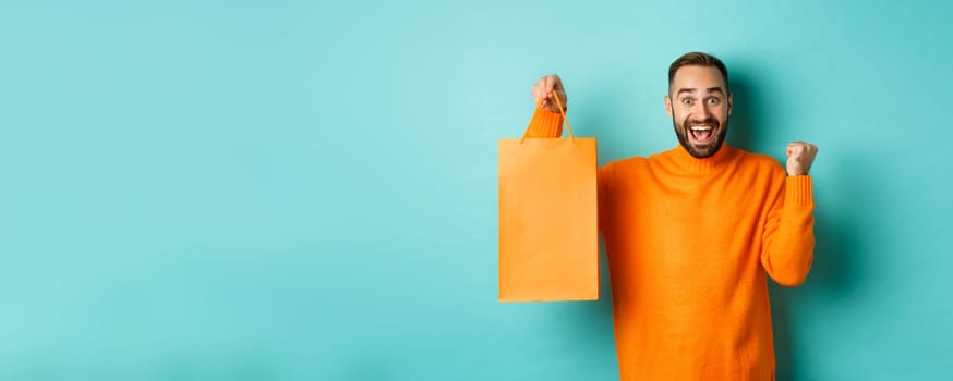
[[[562,135],[553,90],[530,136]],[[622,380],[773,380],[770,275],[804,282],[813,258],[808,170],[817,147],[787,146],[787,174],[768,156],[725,144],[733,97],[717,58],[672,63],[665,110],[678,145],[599,169],[599,225],[608,257]]]

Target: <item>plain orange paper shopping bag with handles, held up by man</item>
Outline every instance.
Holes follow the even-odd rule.
[[[500,302],[599,299],[595,138],[566,130],[499,140]]]

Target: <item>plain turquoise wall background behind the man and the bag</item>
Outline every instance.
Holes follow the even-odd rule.
[[[728,64],[729,142],[820,147],[779,379],[949,379],[951,13],[3,1],[0,379],[617,379],[607,288],[497,303],[496,140],[558,73],[601,162],[672,148],[691,50]]]

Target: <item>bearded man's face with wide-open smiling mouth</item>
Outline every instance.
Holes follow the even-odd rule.
[[[691,156],[708,158],[725,142],[732,94],[716,67],[681,66],[668,86],[665,111],[672,118],[678,143]]]

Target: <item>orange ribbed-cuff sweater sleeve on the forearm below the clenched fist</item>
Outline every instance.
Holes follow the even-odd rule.
[[[781,285],[804,283],[813,261],[815,218],[810,176],[787,176],[764,226],[761,266]]]

